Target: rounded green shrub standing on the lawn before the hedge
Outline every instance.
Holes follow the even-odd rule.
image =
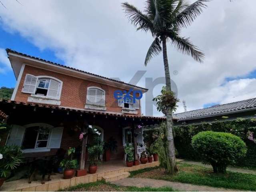
[[[204,164],[211,164],[214,172],[226,172],[246,155],[246,144],[238,136],[224,132],[204,131],[192,138],[192,146]]]

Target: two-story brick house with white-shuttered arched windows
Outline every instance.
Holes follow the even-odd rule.
[[[0,110],[12,126],[1,144],[22,146],[27,157],[56,154],[58,148],[79,147],[79,127],[86,121],[102,133],[102,141],[113,137],[118,150],[112,158],[123,158],[123,146],[143,144],[139,124],[152,125],[163,118],[141,116],[140,100],[116,100],[116,90],[146,88],[91,74],[7,49],[17,84],[11,100],[0,100]],[[132,92],[131,92],[132,97]],[[134,134],[134,131],[136,134]],[[90,142],[90,141],[88,141]]]

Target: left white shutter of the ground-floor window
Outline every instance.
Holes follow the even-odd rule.
[[[22,145],[23,136],[26,128],[19,125],[12,125],[12,130],[10,132],[8,141],[6,143],[7,146],[10,145]]]

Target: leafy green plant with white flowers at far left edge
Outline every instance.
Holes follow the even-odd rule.
[[[22,163],[22,158],[19,146],[0,146],[0,187],[11,172]]]

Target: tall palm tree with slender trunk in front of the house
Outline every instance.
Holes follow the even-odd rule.
[[[171,92],[171,79],[167,58],[166,41],[170,42],[178,51],[192,56],[197,62],[202,62],[204,53],[190,42],[189,38],[181,37],[182,28],[190,24],[206,8],[208,0],[197,0],[192,4],[184,0],[146,0],[144,12],[138,10],[128,2],[122,3],[122,7],[130,22],[137,30],[150,31],[154,40],[150,45],[145,58],[145,66],[153,56],[163,51],[166,91]],[[161,45],[162,44],[162,45]],[[170,173],[175,168],[174,138],[172,132],[172,107],[166,107],[166,127],[168,140],[168,158]]]

